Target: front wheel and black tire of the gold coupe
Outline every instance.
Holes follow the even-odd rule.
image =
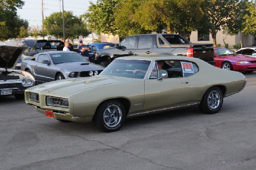
[[[115,132],[125,122],[125,107],[118,100],[105,101],[97,109],[93,122],[103,132]]]

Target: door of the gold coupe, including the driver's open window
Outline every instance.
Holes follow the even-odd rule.
[[[170,61],[168,61],[170,62]],[[190,83],[186,77],[183,77],[180,61],[175,61],[177,66],[166,68],[169,78],[158,80],[154,78],[151,72],[148,79],[145,80],[145,102],[143,112],[162,110],[172,107],[187,105],[190,97]],[[175,73],[175,76],[171,74]],[[158,73],[157,73],[158,76]]]

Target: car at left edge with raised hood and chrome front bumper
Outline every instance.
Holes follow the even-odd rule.
[[[35,79],[28,72],[15,70],[25,47],[0,46],[0,96],[14,95],[24,99],[24,91],[35,85]]]

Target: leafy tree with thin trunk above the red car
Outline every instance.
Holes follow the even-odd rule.
[[[227,27],[230,32],[239,30],[244,1],[246,0],[205,0],[202,3],[205,27],[212,35],[213,46],[217,45],[216,34],[221,28]]]

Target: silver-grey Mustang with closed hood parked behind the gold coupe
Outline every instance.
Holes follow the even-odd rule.
[[[104,69],[77,52],[42,52],[21,62],[21,70],[31,73],[37,83],[98,75]]]

